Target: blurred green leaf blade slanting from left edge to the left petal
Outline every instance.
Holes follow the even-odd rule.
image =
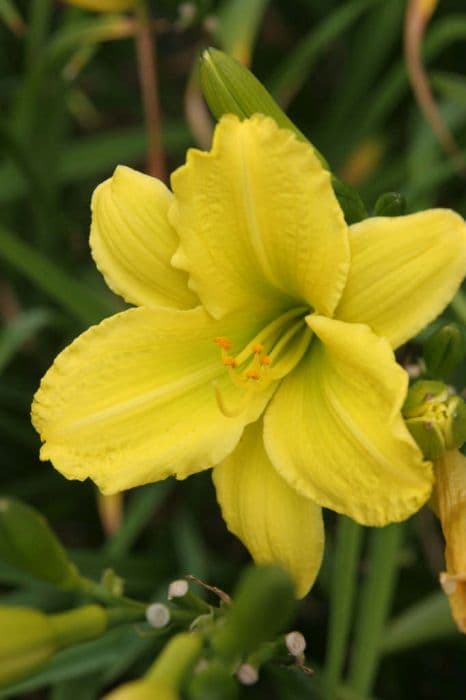
[[[0,258],[86,326],[100,321],[114,311],[112,305],[93,294],[50,259],[1,225]]]

